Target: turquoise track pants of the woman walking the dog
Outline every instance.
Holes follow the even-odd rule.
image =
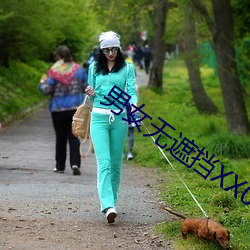
[[[97,190],[101,211],[115,207],[121,179],[124,144],[128,133],[127,113],[114,115],[91,113],[90,134],[97,160]]]

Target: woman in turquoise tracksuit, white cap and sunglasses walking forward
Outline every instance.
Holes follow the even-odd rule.
[[[97,159],[97,188],[101,211],[106,213],[108,223],[117,216],[115,204],[120,185],[121,165],[128,122],[126,105],[109,96],[114,86],[130,96],[130,104],[137,106],[135,71],[132,64],[126,63],[121,50],[119,35],[104,32],[99,36],[100,53],[89,67],[86,93],[93,100],[90,133]],[[112,105],[109,101],[115,101]],[[105,104],[103,104],[105,103]],[[119,115],[115,113],[121,112]],[[123,110],[123,111],[122,111]]]

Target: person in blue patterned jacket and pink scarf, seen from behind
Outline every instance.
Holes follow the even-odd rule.
[[[49,110],[56,134],[55,173],[64,173],[66,168],[67,141],[69,142],[70,166],[73,175],[80,175],[80,142],[71,131],[72,117],[84,100],[87,74],[73,61],[67,46],[59,46],[55,51],[55,64],[48,77],[41,79],[39,89],[50,95]]]

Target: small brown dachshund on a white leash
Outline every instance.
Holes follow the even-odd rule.
[[[166,211],[183,219],[181,233],[183,239],[187,239],[188,234],[194,234],[203,240],[217,241],[224,249],[230,249],[230,232],[222,225],[210,218],[187,218],[185,215],[173,212],[171,209],[163,207]]]

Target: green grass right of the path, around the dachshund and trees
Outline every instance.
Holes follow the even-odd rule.
[[[166,126],[164,132],[172,139],[162,136],[158,141],[160,145],[167,145],[163,149],[164,153],[206,213],[230,230],[232,249],[250,249],[250,208],[249,205],[243,205],[241,202],[241,195],[249,187],[249,184],[238,187],[236,199],[234,198],[234,189],[225,191],[220,187],[220,179],[210,181],[211,178],[220,175],[221,164],[224,165],[224,173],[234,172],[234,174],[224,178],[223,188],[235,184],[235,174],[238,175],[238,184],[250,181],[250,138],[227,133],[218,79],[209,68],[204,67],[201,72],[205,89],[220,109],[219,114],[202,115],[197,112],[192,100],[186,68],[182,61],[175,60],[165,67],[164,91],[162,93],[145,88],[139,90],[140,101],[145,104],[143,111],[152,117],[152,120],[145,119],[144,124],[153,133],[156,129],[151,123],[159,128],[163,126],[163,122],[158,118],[160,117],[175,128],[173,130]],[[250,107],[250,100],[246,101],[247,107]],[[248,112],[250,113],[250,110]],[[146,129],[143,126],[141,129],[141,133],[135,133],[133,163],[138,164],[138,166],[159,168],[165,181],[158,188],[165,204],[172,207],[173,210],[185,213],[188,217],[202,217],[201,210],[179,180],[176,172],[168,164],[152,139],[143,136],[143,134],[147,134]],[[158,135],[154,136],[155,140]],[[190,141],[194,140],[195,145],[200,149],[205,147],[204,152],[208,152],[209,158],[215,154],[214,160],[220,160],[214,164],[215,168],[206,180],[194,171],[196,169],[203,175],[207,174],[199,166],[199,162],[188,168],[173,157],[170,150],[165,151],[166,148],[171,148],[174,145],[174,138],[180,143],[184,137]],[[208,164],[204,166],[211,169]],[[250,201],[249,193],[244,198],[245,202]],[[184,242],[179,237],[180,224],[180,219],[166,222],[157,225],[156,232],[164,234],[166,238],[175,238],[175,248],[178,250],[219,249],[214,243],[200,246],[195,237],[190,237],[191,240]]]

